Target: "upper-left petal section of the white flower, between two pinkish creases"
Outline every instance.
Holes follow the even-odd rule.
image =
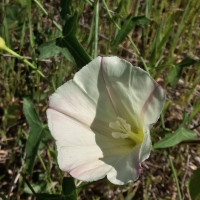
[[[112,137],[109,122],[117,115],[107,95],[100,65],[98,57],[76,73],[73,80],[50,97],[49,107]]]

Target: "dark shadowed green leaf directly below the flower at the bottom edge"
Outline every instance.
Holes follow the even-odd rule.
[[[72,177],[64,177],[62,183],[62,194],[67,196],[69,200],[76,200],[76,186]]]

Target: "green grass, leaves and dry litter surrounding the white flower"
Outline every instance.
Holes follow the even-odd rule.
[[[23,59],[0,51],[0,198],[61,193],[48,97],[92,58],[117,55],[148,71],[167,102],[140,178],[125,186],[75,180],[78,198],[199,199],[199,10],[198,0],[3,0],[0,36]]]

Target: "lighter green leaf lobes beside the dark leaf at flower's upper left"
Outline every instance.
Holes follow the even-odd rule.
[[[56,45],[56,39],[45,42],[38,47],[40,52],[39,60],[50,58],[61,53],[69,62],[75,65],[75,60],[67,48],[59,47]]]

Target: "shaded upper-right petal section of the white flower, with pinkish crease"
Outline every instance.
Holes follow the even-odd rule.
[[[157,121],[165,101],[164,90],[144,70],[118,57],[103,57],[104,80],[118,116],[133,129]]]

